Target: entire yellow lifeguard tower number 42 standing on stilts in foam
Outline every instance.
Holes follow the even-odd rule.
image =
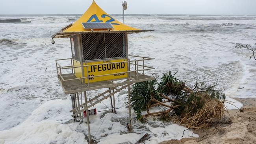
[[[152,30],[139,30],[122,24],[93,0],[78,20],[52,35],[52,43],[54,38],[70,38],[72,58],[55,60],[57,76],[64,93],[71,96],[73,109],[70,112],[74,120],[83,122],[83,117],[87,117],[89,141],[89,114],[93,113],[89,108],[111,98],[112,111],[115,112],[114,94],[126,87],[132,128],[130,85],[154,79],[145,75],[146,70],[154,69],[145,65],[145,61],[153,58],[128,55],[128,34],[144,31]],[[69,61],[69,64],[60,65],[63,61]],[[88,90],[103,88],[108,90],[92,99],[87,98]]]

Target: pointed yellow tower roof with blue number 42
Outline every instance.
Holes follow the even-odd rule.
[[[83,24],[82,24],[83,23]],[[84,25],[86,23],[95,23],[100,26],[104,26],[104,23],[108,23],[112,25],[111,28],[102,27],[102,29],[93,29],[93,28],[85,28]],[[106,26],[106,25],[105,25]],[[100,28],[100,27],[99,27]],[[92,30],[93,29],[93,30]],[[104,32],[127,32],[127,33],[139,33],[144,31],[153,31],[153,30],[140,30],[137,28],[133,28],[127,26],[115,18],[111,17],[108,13],[102,10],[96,2],[93,0],[91,6],[83,13],[83,15],[78,18],[74,23],[65,26],[60,31],[52,35],[52,38],[62,38],[62,37],[70,37],[70,35],[74,35],[77,33],[104,33]]]

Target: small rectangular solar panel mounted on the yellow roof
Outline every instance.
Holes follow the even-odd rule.
[[[84,29],[108,29],[114,28],[109,22],[100,23],[100,22],[82,22]]]

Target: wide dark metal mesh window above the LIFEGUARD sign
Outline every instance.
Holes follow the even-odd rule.
[[[83,60],[126,57],[125,33],[82,34]]]

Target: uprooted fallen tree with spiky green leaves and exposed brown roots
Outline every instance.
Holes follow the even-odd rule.
[[[176,74],[176,73],[175,73]],[[207,120],[215,118],[221,120],[226,110],[224,106],[225,94],[216,90],[217,83],[206,85],[197,82],[186,86],[171,72],[163,77],[151,81],[135,83],[131,91],[131,107],[137,114],[137,119],[146,121],[148,116],[163,116],[174,112],[174,121],[188,128],[208,128],[213,123]],[[163,106],[166,109],[150,113],[150,107]],[[143,112],[147,114],[141,115]]]

